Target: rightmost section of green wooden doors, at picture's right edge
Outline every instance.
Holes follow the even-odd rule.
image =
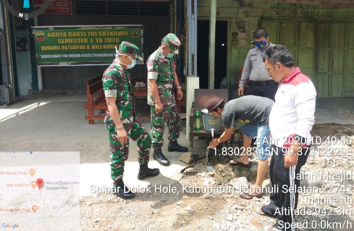
[[[318,23],[317,75],[318,96],[354,97],[354,26]]]

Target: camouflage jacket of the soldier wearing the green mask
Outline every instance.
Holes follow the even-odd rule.
[[[148,57],[147,66],[148,79],[156,79],[156,85],[162,105],[174,105],[176,103],[173,94],[175,86],[174,73],[176,70],[175,58],[166,58],[161,51],[161,47],[159,47]],[[149,86],[148,104],[155,105],[155,100],[152,97]]]

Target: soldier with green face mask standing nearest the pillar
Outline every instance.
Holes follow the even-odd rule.
[[[178,53],[180,41],[175,34],[166,35],[161,46],[153,52],[147,61],[148,66],[148,104],[151,106],[151,138],[154,149],[153,158],[161,165],[168,166],[170,161],[161,152],[163,133],[167,125],[169,152],[187,152],[186,147],[177,144],[179,122],[174,88],[177,88],[177,100],[183,97],[179,86],[174,55]]]

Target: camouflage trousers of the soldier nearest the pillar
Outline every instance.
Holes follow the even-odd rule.
[[[180,116],[176,104],[163,105],[161,112],[156,113],[155,106],[151,106],[151,141],[152,148],[161,148],[163,146],[163,133],[167,125],[169,131],[167,138],[177,140],[179,137]]]

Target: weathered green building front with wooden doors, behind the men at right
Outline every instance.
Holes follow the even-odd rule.
[[[254,46],[253,32],[264,27],[273,44],[292,52],[295,65],[314,82],[318,97],[354,97],[353,0],[217,0],[216,4],[216,20],[228,25],[223,33],[228,38],[229,89],[237,87],[236,76]],[[199,21],[209,20],[209,9],[210,0],[198,0]]]

